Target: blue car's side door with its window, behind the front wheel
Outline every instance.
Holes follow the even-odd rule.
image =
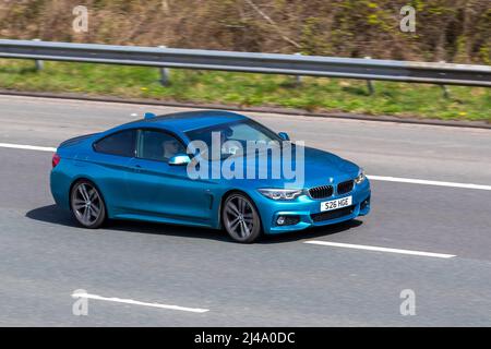
[[[212,217],[212,196],[206,183],[191,180],[187,166],[168,164],[171,156],[185,154],[176,135],[160,129],[141,129],[136,157],[131,159],[132,172],[127,186],[141,215],[167,220],[205,222]]]

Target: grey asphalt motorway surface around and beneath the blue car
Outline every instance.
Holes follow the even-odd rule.
[[[71,136],[177,108],[0,96],[0,143]],[[182,110],[182,109],[179,109]],[[491,130],[250,115],[369,174],[491,185]],[[221,231],[115,221],[79,228],[49,193],[51,153],[0,146],[0,325],[490,326],[491,191],[372,181],[372,213],[242,245]],[[315,245],[340,242],[439,258]],[[71,294],[207,309],[204,313]],[[402,315],[403,290],[416,314]]]

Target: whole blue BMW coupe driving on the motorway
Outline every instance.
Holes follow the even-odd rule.
[[[254,142],[267,147],[251,156]],[[218,152],[211,151],[216,144]],[[294,155],[279,152],[279,160],[261,163],[261,154],[283,148]],[[275,164],[289,165],[289,176]],[[238,242],[370,212],[370,183],[359,166],[291,145],[286,133],[226,111],[148,113],[68,140],[53,155],[50,182],[56,203],[86,228],[106,219],[148,220],[224,228]]]

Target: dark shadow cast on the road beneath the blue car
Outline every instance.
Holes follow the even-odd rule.
[[[39,220],[44,222],[49,222],[59,226],[65,226],[70,228],[80,228],[75,219],[70,212],[59,208],[57,205],[48,205],[32,209],[25,214],[29,219]],[[301,231],[292,231],[282,234],[270,234],[263,236],[258,243],[270,244],[270,243],[282,243],[291,242],[303,239],[315,239],[319,237],[325,237],[333,233],[338,233],[347,231],[351,228],[360,226],[362,222],[360,220],[350,220],[337,225],[316,227]],[[184,227],[175,226],[167,224],[156,224],[147,221],[135,221],[135,220],[110,220],[104,226],[106,230],[120,230],[136,233],[152,233],[152,234],[167,234],[167,236],[179,236],[183,238],[199,238],[217,240],[224,242],[231,242],[231,239],[223,230],[207,229],[200,227]]]

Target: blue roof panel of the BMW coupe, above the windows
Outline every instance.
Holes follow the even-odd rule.
[[[163,127],[175,131],[188,132],[221,123],[229,123],[249,118],[240,113],[224,110],[182,111],[151,117],[128,123],[132,127]]]

